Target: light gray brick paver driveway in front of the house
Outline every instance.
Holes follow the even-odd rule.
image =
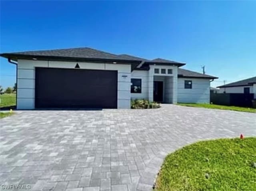
[[[256,114],[177,105],[16,111],[0,126],[1,185],[135,191],[152,188],[168,152],[200,139],[255,136]]]

